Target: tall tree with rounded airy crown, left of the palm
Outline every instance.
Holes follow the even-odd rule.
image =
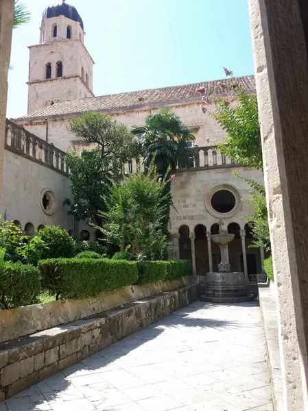
[[[105,210],[106,184],[121,174],[123,164],[136,153],[132,135],[125,125],[99,112],[88,112],[71,119],[68,129],[97,147],[84,150],[81,155],[76,150],[67,153],[73,201],[65,199],[64,204],[69,206],[68,214],[78,221],[89,219],[101,226],[99,210]]]

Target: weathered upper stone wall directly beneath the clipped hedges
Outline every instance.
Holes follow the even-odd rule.
[[[174,281],[153,282],[139,286],[123,287],[117,291],[102,292],[88,299],[66,299],[49,303],[12,308],[0,311],[0,343],[34,334],[56,325],[71,323],[93,314],[99,314],[138,299],[172,290],[196,282],[191,275]]]

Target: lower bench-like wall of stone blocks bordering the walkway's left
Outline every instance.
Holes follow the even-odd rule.
[[[200,297],[187,284],[0,344],[0,401],[158,321]]]

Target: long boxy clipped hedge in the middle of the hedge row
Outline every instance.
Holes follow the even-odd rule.
[[[85,298],[106,290],[137,283],[137,265],[133,261],[107,258],[55,258],[38,263],[43,288],[62,298]]]

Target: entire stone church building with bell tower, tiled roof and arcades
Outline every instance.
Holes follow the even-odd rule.
[[[263,251],[249,247],[252,235],[244,219],[251,214],[248,186],[233,171],[260,183],[263,175],[234,164],[215,150],[225,134],[200,110],[196,94],[196,88],[204,86],[209,95],[215,92],[232,99],[235,82],[255,92],[254,76],[224,79],[225,90],[219,81],[211,81],[95,97],[94,62],[84,35],[82,18],[65,1],[43,13],[39,44],[29,47],[28,112],[7,122],[2,217],[16,221],[27,234],[44,224],[58,224],[75,238],[84,234],[95,238],[86,222],[74,223],[62,206],[71,195],[64,153],[71,142],[80,150],[87,148],[67,131],[68,119],[95,110],[130,128],[143,125],[148,114],[169,105],[196,136],[191,147],[196,152],[193,167],[178,169],[172,182],[174,258],[191,259],[197,274],[217,271],[220,251],[210,236],[222,219],[224,227],[235,234],[228,246],[231,269],[244,271],[250,279],[261,274]],[[128,173],[135,167],[135,163],[128,165]]]

